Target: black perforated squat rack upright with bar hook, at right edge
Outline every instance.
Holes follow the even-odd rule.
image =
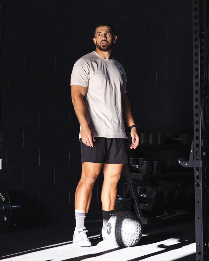
[[[208,0],[193,0],[193,124],[194,140],[188,161],[179,158],[183,167],[194,168],[196,261],[209,260],[208,197],[209,171],[209,101],[208,85]]]

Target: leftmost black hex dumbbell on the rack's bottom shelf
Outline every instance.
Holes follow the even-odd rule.
[[[145,188],[137,187],[137,193],[139,199],[141,199],[142,202],[146,202],[150,205],[161,204],[163,201],[162,191],[157,190],[155,188],[146,187],[145,194]]]

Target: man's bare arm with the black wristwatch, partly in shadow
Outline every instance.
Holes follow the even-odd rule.
[[[127,93],[122,93],[122,105],[123,105],[123,119],[128,125],[128,127],[135,124],[134,119],[131,113],[131,106],[128,100]],[[137,128],[131,129],[131,137],[132,137],[132,144],[130,145],[130,149],[136,149],[139,145],[139,136],[137,134]]]

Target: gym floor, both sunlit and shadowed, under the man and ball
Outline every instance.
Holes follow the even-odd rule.
[[[87,222],[91,247],[72,244],[74,225],[7,232],[0,235],[0,259],[8,261],[195,261],[194,214],[176,214],[143,225],[143,236],[133,247],[120,248],[101,241],[101,221]]]

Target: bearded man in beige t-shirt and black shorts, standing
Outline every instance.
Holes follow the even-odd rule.
[[[96,50],[81,57],[71,75],[72,103],[81,125],[82,173],[75,195],[76,228],[73,235],[73,243],[77,246],[91,246],[84,221],[102,165],[101,236],[108,239],[107,222],[114,214],[123,164],[128,163],[124,121],[131,129],[130,149],[136,149],[139,144],[137,125],[126,92],[126,74],[123,66],[110,56],[116,40],[112,25],[107,22],[97,25],[93,38]]]

